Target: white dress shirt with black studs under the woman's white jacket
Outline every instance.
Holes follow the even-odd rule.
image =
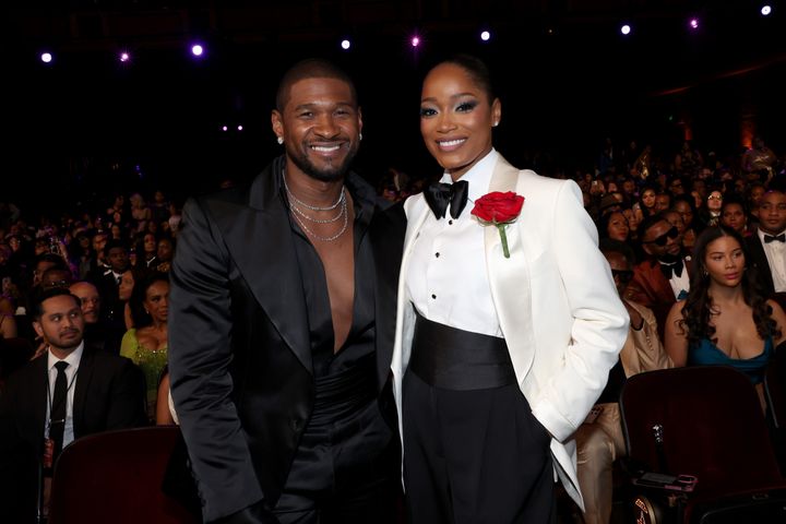
[[[406,291],[418,312],[433,322],[501,337],[486,269],[486,228],[471,214],[475,200],[488,193],[498,158],[491,150],[461,178],[469,186],[458,218],[450,211],[439,221],[433,213],[426,218],[412,252]],[[452,182],[446,172],[440,181]]]

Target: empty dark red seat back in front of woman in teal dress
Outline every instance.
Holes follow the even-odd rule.
[[[631,377],[620,396],[632,461],[658,471],[653,427],[663,427],[668,472],[695,475],[696,493],[782,486],[784,481],[748,377],[726,366],[650,371]]]

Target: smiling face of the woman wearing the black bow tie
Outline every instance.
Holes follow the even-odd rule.
[[[491,151],[491,128],[502,115],[499,99],[467,70],[441,63],[424,80],[420,95],[420,133],[431,156],[461,178]]]

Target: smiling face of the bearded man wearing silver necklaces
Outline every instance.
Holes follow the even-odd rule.
[[[284,139],[287,170],[322,181],[340,180],[357,154],[362,129],[354,91],[340,79],[309,78],[293,83],[282,110],[271,116]]]

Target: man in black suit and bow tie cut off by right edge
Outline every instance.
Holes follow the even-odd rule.
[[[771,188],[759,201],[759,228],[746,238],[759,283],[767,296],[786,293],[786,193]]]

